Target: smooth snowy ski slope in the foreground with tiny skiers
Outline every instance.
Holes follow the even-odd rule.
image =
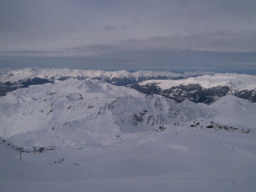
[[[255,137],[255,130],[245,134],[169,125],[161,132],[120,134],[108,145],[84,143],[74,149],[56,147],[52,151],[22,154],[22,160],[19,152],[0,145],[1,188],[253,191]],[[60,161],[58,158],[64,161],[54,164]]]

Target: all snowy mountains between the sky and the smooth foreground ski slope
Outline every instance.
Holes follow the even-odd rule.
[[[177,79],[157,80],[160,76]],[[179,79],[184,76],[171,72],[25,68],[1,70],[0,77],[10,88],[27,85],[28,81],[35,83],[0,97],[0,136],[22,146],[65,146],[99,140],[104,143],[104,138],[118,134],[157,130],[177,122],[191,124],[197,118],[213,120],[218,116],[218,122],[227,122],[220,115],[227,109],[238,110],[237,113],[244,109],[243,113],[250,114],[255,110],[248,100],[231,97],[250,93],[249,99],[254,101],[256,77],[245,74],[203,74]],[[156,79],[136,83],[137,88],[135,83],[132,85],[147,95],[106,82],[124,77],[136,81],[139,77]],[[191,100],[213,103],[208,106]]]

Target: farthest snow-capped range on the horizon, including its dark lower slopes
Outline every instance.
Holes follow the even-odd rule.
[[[120,70],[106,72],[103,70],[71,70],[60,68],[23,68],[23,69],[0,69],[0,96],[5,95],[17,88],[28,87],[31,84],[54,83],[66,79],[100,79],[118,86],[126,86],[132,83],[148,79],[184,79],[189,76],[202,76],[214,74],[212,72],[186,72],[175,74],[173,72],[152,72],[140,70],[127,72]]]

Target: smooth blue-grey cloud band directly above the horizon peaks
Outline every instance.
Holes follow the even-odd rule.
[[[54,65],[52,64],[54,63]],[[96,57],[5,57],[1,68],[56,67],[102,70],[207,70],[256,74],[256,52],[211,52],[191,50],[124,51]]]

